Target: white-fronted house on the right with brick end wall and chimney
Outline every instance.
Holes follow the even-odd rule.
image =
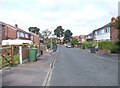
[[[118,30],[112,25],[116,19],[118,19],[118,17],[112,17],[110,23],[95,29],[90,34],[86,35],[86,41],[118,41]]]

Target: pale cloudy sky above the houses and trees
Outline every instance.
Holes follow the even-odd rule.
[[[28,31],[57,26],[87,35],[118,16],[119,0],[0,0],[0,21]]]

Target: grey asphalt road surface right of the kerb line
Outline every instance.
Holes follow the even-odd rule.
[[[114,58],[59,46],[49,86],[117,86],[118,62]]]

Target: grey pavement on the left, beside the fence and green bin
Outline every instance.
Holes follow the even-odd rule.
[[[36,62],[2,70],[2,86],[44,86],[54,53],[46,51]]]

